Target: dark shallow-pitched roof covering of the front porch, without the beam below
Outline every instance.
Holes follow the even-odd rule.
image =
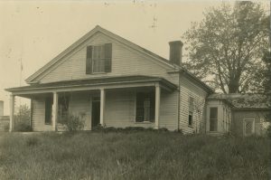
[[[165,80],[160,77],[151,76],[118,76],[118,77],[103,77],[103,78],[92,78],[92,79],[82,79],[82,80],[72,80],[72,81],[55,81],[48,83],[36,83],[28,86],[15,87],[5,89],[9,92],[20,93],[28,90],[55,90],[55,89],[65,89],[65,88],[76,88],[76,87],[95,87],[103,85],[121,85],[121,84],[131,84],[131,83],[145,83],[145,82],[159,82],[166,89],[175,90],[177,85],[170,81]]]

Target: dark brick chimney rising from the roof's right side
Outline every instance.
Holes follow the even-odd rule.
[[[181,65],[182,64],[182,45],[181,41],[170,42],[170,61]]]

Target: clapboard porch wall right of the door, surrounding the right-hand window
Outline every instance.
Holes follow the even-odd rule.
[[[135,123],[136,90],[115,90],[106,94],[105,124],[107,127],[154,128],[154,123]],[[178,128],[178,93],[161,93],[159,128],[175,130]]]

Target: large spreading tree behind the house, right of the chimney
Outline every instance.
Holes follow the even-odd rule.
[[[184,33],[190,60],[183,66],[224,93],[259,91],[267,22],[263,8],[252,2],[210,8]]]

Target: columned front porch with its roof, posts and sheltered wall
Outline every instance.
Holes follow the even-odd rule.
[[[161,101],[172,99],[176,86],[160,78],[140,76],[129,79],[61,81],[9,89],[12,92],[10,131],[14,129],[15,96],[32,100],[33,131],[61,130],[59,125],[68,114],[84,118],[85,130],[98,125],[116,128],[166,127],[167,119],[163,117],[161,121],[161,110],[168,116],[170,109],[164,109],[167,108],[166,103],[161,109]],[[177,123],[177,119],[172,118]],[[168,121],[169,126],[171,122]]]

